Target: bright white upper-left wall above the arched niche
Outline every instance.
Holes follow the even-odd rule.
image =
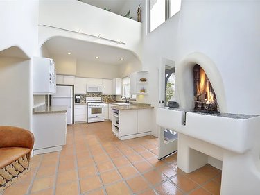
[[[18,46],[27,56],[37,46],[38,1],[0,1],[0,51]]]

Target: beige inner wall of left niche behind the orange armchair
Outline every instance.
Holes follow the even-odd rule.
[[[30,60],[0,56],[0,124],[31,129]]]

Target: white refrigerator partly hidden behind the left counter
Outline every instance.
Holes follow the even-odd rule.
[[[57,85],[56,94],[51,96],[52,106],[67,106],[67,124],[72,124],[73,88],[72,86]]]

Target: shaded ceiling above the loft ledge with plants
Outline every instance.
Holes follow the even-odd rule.
[[[119,15],[126,1],[130,0],[81,0],[81,2],[97,8],[107,8],[107,10],[111,9],[110,12],[114,12]]]

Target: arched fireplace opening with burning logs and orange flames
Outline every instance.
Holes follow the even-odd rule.
[[[218,102],[216,94],[200,65],[193,67],[194,78],[194,110],[195,112],[205,112],[209,114],[217,114]]]

